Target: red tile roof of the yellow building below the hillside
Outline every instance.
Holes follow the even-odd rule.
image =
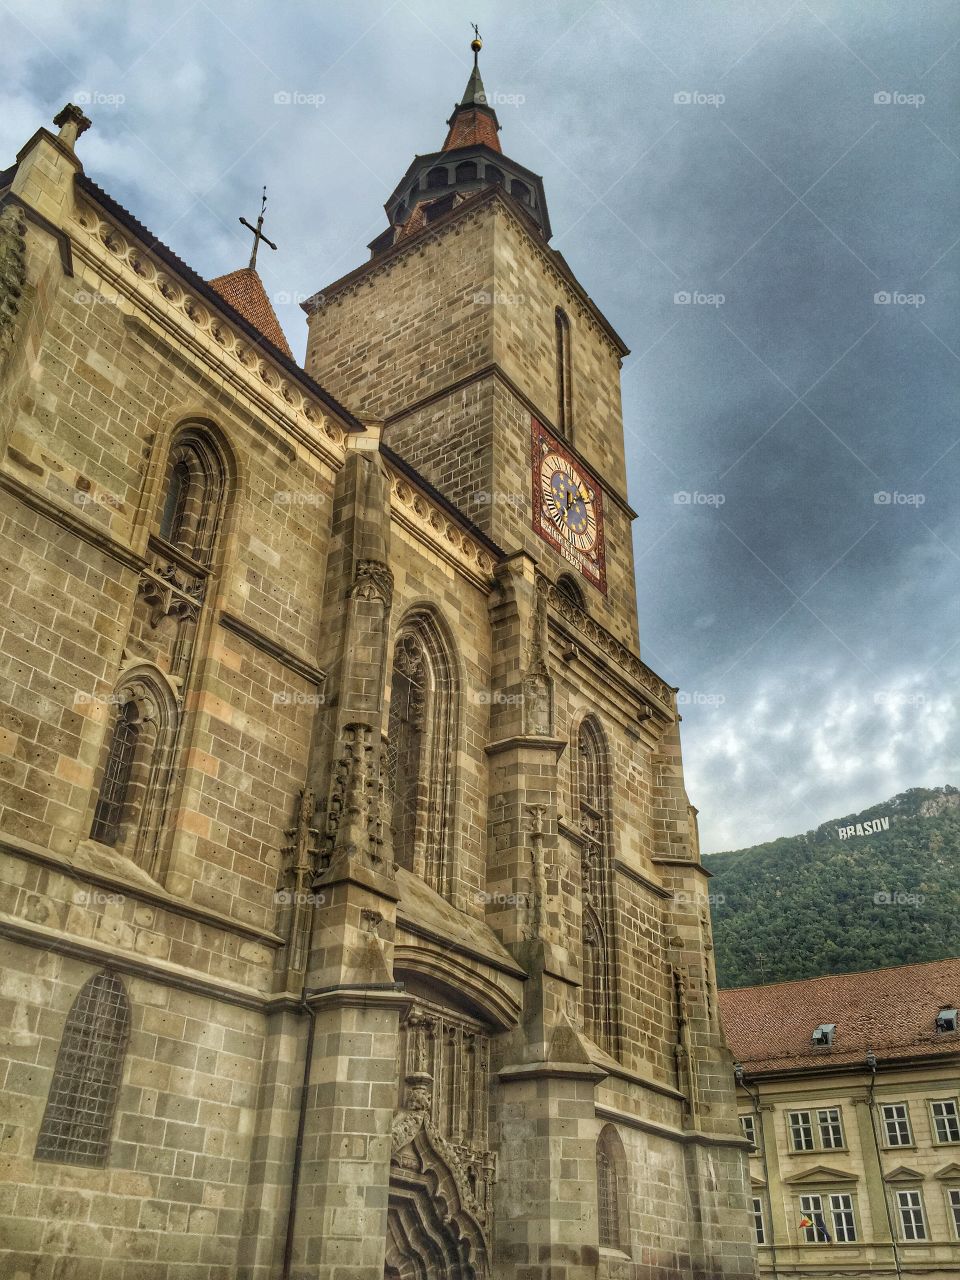
[[[960,1005],[960,959],[719,992],[723,1029],[749,1074],[797,1068],[831,1070],[863,1062],[872,1048],[890,1059],[960,1056],[960,1033],[934,1029],[943,1006]],[[831,1048],[810,1037],[835,1023]]]

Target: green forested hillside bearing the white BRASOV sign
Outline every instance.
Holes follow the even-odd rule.
[[[960,955],[956,787],[914,787],[704,865],[721,987]]]

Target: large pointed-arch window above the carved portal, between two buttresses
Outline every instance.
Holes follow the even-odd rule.
[[[426,612],[406,618],[393,652],[387,726],[393,855],[444,895],[452,873],[456,685],[434,618]]]

